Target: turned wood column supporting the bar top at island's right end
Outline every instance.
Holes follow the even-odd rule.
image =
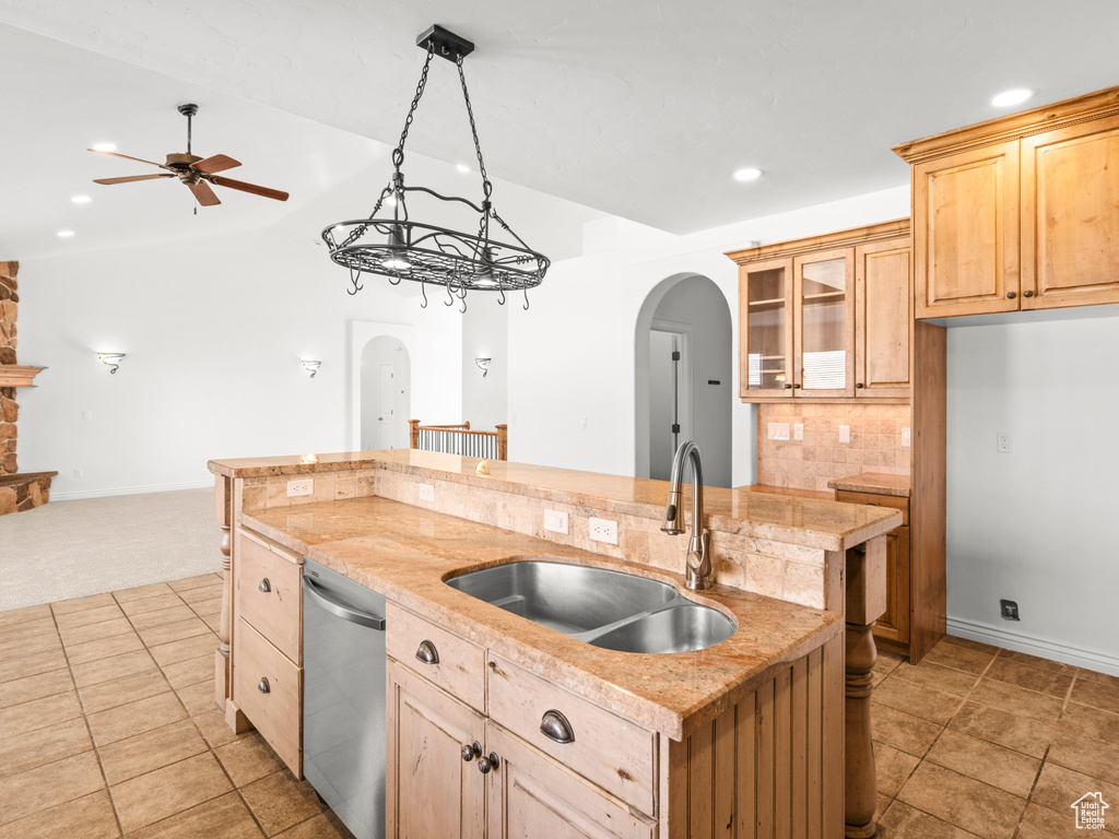
[[[847,552],[846,698],[844,701],[844,821],[847,839],[880,835],[874,820],[878,782],[871,742],[871,694],[874,661],[874,622],[886,611],[886,537],[876,536]]]

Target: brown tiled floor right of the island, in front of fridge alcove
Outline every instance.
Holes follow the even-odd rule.
[[[888,839],[1119,836],[1119,678],[958,638],[875,671]],[[1075,827],[1088,792],[1111,805],[1103,831]]]

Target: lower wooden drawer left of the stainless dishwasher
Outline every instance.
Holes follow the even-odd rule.
[[[233,687],[237,706],[295,777],[301,777],[303,720],[299,698],[303,670],[244,619],[237,621],[233,647]]]

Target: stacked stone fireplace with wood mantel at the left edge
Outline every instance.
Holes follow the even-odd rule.
[[[50,500],[50,479],[57,472],[20,474],[16,463],[16,388],[31,384],[38,369],[16,360],[16,315],[19,291],[18,262],[0,262],[0,516],[45,505]]]

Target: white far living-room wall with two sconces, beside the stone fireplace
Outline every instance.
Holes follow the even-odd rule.
[[[349,449],[354,320],[414,323],[413,409],[461,411],[460,315],[372,277],[347,295],[311,236],[29,258],[19,279],[20,362],[49,368],[20,390],[19,466],[57,470],[55,499],[201,486],[215,458]],[[126,353],[115,375],[97,350]],[[322,361],[313,379],[301,358]]]

